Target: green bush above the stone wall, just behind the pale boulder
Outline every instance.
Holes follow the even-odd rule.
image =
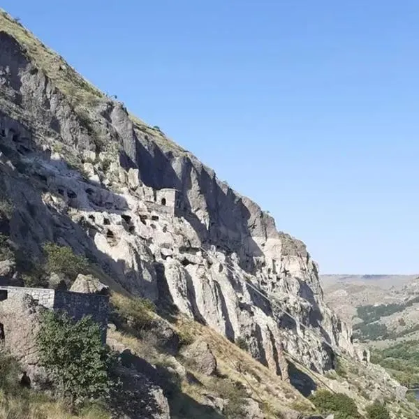
[[[87,273],[89,268],[87,259],[84,256],[75,255],[71,247],[46,243],[43,250],[46,255],[45,270],[48,273],[62,273],[72,281],[78,274]]]

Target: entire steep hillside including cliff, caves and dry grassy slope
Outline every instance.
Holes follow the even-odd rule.
[[[307,399],[321,388],[362,415],[377,399],[415,417],[362,364],[303,242],[4,12],[0,52],[0,285],[70,288],[80,265],[110,288],[107,343],[125,369],[107,417],[325,416]]]

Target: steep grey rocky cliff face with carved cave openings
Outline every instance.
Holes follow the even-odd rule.
[[[66,244],[130,293],[244,338],[276,372],[281,348],[319,372],[332,367],[322,339],[353,355],[302,242],[5,15],[0,87],[2,199],[15,207],[0,229],[20,249]]]

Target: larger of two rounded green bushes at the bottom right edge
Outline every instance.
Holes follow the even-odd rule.
[[[351,397],[328,390],[318,390],[309,397],[321,413],[335,413],[336,419],[358,419],[360,413]]]

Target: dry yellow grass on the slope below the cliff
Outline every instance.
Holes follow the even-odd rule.
[[[185,362],[181,356],[177,357],[177,361],[182,363],[186,371],[201,383],[196,385],[186,380],[181,383],[182,393],[196,403],[205,403],[205,395],[223,397],[221,393],[230,389],[231,383],[238,383],[260,404],[265,418],[281,417],[281,412],[292,409],[295,405],[302,406],[303,411],[313,411],[312,404],[295,388],[281,381],[279,376],[254,360],[249,353],[242,351],[210,328],[184,317],[179,318],[171,327],[179,335],[187,332],[187,335],[195,339],[206,341],[217,360],[218,374],[209,377],[193,370],[189,362]],[[110,331],[108,338],[124,348],[129,348],[151,364],[170,366],[173,360],[170,355],[160,353],[144,339],[136,339],[118,331]]]

